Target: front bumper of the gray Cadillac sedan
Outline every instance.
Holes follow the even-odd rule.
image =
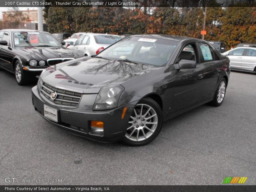
[[[48,122],[72,134],[104,143],[115,142],[124,138],[132,110],[137,103],[137,101],[135,101],[125,106],[102,111],[60,108],[46,103],[37,92],[36,86],[32,88],[32,102],[36,112],[38,112],[42,117],[44,117],[44,104],[58,111],[58,123],[44,117]],[[80,105],[83,105],[83,103],[80,102]],[[128,108],[124,119],[122,119],[121,117],[124,107]],[[91,121],[104,122],[103,136],[95,136],[90,133]]]

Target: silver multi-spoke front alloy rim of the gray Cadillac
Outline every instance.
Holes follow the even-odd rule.
[[[147,104],[137,104],[128,123],[125,134],[127,139],[132,141],[146,140],[156,131],[158,124],[156,111]]]

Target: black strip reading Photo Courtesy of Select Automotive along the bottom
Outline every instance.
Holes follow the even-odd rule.
[[[100,185],[100,186],[75,186],[75,185],[41,185],[41,186],[33,186],[33,185],[20,185],[20,186],[0,186],[1,192],[170,192],[170,191],[182,191],[182,192],[213,192],[213,191],[243,191],[243,192],[250,192],[256,191],[256,186],[243,186],[243,185],[222,185],[222,186],[158,186],[158,185],[120,185],[120,186],[113,186],[113,185]]]

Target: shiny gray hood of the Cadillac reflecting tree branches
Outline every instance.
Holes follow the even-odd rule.
[[[122,84],[157,68],[101,58],[80,58],[48,67],[43,82],[75,92],[98,93],[107,84]]]

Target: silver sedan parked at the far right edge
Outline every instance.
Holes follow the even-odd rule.
[[[228,56],[232,70],[256,72],[256,48],[236,47],[222,54]]]

